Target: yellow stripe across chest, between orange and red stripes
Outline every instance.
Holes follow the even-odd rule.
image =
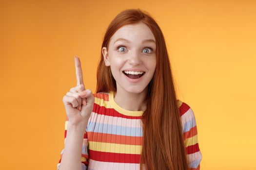
[[[89,149],[109,153],[140,154],[142,146],[89,141]]]

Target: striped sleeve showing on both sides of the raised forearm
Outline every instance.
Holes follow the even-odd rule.
[[[65,121],[64,146],[65,146],[65,143],[66,143],[67,125],[68,125],[68,117],[66,117],[66,121]],[[61,162],[63,152],[64,152],[64,148],[60,152],[60,159],[59,159],[59,163],[57,164],[57,170],[59,170],[59,166],[60,166],[60,162]],[[83,136],[83,144],[82,144],[81,170],[87,170],[88,157],[89,157],[88,156],[88,138],[87,138],[87,133],[85,131],[84,136]]]

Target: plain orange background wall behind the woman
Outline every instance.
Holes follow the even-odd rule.
[[[1,0],[0,169],[57,169],[74,55],[95,92],[103,35],[128,8],[162,29],[201,170],[256,170],[255,0]]]

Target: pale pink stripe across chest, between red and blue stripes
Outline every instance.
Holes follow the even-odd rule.
[[[134,127],[134,128],[142,128],[141,119],[126,119],[120,117],[113,117],[107,115],[100,115],[98,113],[92,112],[91,117],[96,117],[97,119],[90,119],[90,122],[96,123],[104,123],[104,124],[115,124],[117,126],[125,127]],[[115,123],[113,123],[115,122]]]

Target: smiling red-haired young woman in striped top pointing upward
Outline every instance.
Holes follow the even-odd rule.
[[[163,34],[148,13],[125,10],[110,23],[95,94],[78,57],[75,64],[58,170],[199,170],[195,115],[177,99]]]

